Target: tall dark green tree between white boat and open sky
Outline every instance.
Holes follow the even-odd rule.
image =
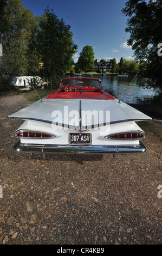
[[[59,20],[53,9],[45,9],[37,21],[36,49],[42,56],[47,78],[55,86],[63,72],[72,65],[77,45],[74,44],[70,26],[63,19]]]

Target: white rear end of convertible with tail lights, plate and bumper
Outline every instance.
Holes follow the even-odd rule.
[[[134,121],[79,130],[55,123],[25,120],[15,135],[19,139],[14,147],[17,152],[116,155],[146,151],[140,142],[145,133]]]

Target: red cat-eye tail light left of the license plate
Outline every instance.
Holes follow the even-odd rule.
[[[50,139],[50,138],[55,138],[55,135],[52,135],[50,133],[46,133],[46,132],[37,132],[37,131],[17,131],[15,133],[15,136],[17,138],[21,138],[21,139]]]

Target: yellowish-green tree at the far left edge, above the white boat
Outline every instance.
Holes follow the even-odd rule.
[[[24,75],[22,70],[28,72],[29,66],[34,62],[30,58],[29,44],[36,26],[35,17],[21,0],[3,1],[3,7],[0,25],[0,42],[3,45],[1,71],[8,75]]]

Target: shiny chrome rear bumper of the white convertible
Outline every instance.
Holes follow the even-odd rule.
[[[43,144],[22,144],[16,143],[14,150],[26,153],[110,153],[110,154],[128,154],[144,153],[145,146],[139,142],[139,145],[91,145],[87,147],[76,147],[70,145],[43,145]]]

